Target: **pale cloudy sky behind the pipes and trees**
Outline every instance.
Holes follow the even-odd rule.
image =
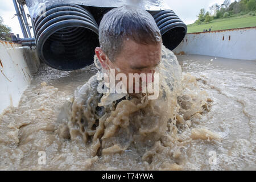
[[[106,0],[108,1],[108,0]],[[165,0],[174,10],[175,13],[186,24],[194,23],[197,19],[196,15],[199,14],[200,9],[204,8],[209,10],[209,7],[214,3],[222,4],[224,0]],[[232,0],[231,2],[233,2]],[[26,9],[27,10],[27,9]],[[28,10],[26,11],[28,13]],[[14,34],[19,34],[23,38],[22,31],[20,30],[19,21],[15,16],[15,9],[12,0],[0,0],[0,16],[4,20],[4,24],[11,27]],[[13,18],[14,17],[14,18]],[[28,19],[28,23],[31,20]]]

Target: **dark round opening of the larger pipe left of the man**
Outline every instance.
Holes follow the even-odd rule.
[[[93,63],[94,48],[98,46],[98,35],[84,27],[72,27],[72,29],[82,34],[72,39],[76,35],[70,34],[71,28],[63,28],[49,36],[44,43],[44,59],[51,67],[69,71],[84,68]]]

